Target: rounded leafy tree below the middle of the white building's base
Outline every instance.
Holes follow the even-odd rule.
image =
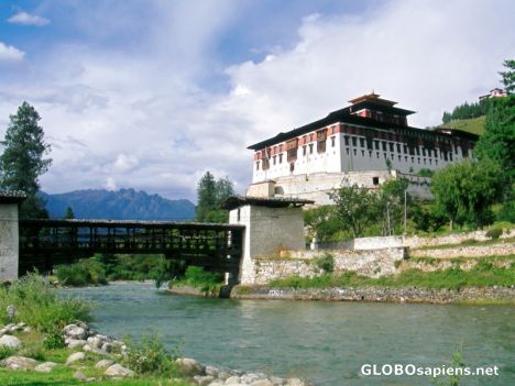
[[[335,201],[335,217],[342,230],[352,232],[353,238],[365,234],[366,229],[379,219],[377,194],[358,185],[343,186],[329,194]]]

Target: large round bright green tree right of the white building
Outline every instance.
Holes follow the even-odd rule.
[[[505,184],[505,174],[497,163],[467,159],[437,172],[432,177],[431,191],[451,229],[454,223],[461,225],[467,222],[483,227],[492,220],[490,207],[501,200]]]

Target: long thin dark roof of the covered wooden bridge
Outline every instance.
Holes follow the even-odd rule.
[[[20,220],[24,225],[45,227],[99,227],[99,228],[182,228],[182,229],[219,229],[230,230],[244,225],[211,223],[211,222],[178,222],[178,221],[140,221],[140,220],[105,220],[105,219],[68,219],[68,220]]]

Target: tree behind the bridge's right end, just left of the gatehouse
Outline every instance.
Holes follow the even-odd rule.
[[[227,222],[229,213],[220,206],[233,195],[234,187],[229,178],[215,180],[212,174],[207,172],[197,186],[197,221]]]

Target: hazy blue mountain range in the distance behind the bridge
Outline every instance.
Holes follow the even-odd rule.
[[[195,205],[186,199],[168,200],[134,189],[74,190],[61,195],[42,192],[51,218],[63,218],[70,207],[77,219],[191,220]]]

